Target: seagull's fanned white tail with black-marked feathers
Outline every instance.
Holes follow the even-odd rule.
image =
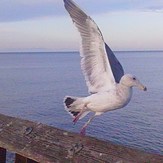
[[[66,96],[64,98],[64,106],[65,110],[73,117],[77,117],[77,115],[81,112],[82,109],[85,109],[85,103],[84,98],[80,97],[72,97],[72,96]],[[82,119],[85,117],[89,111],[83,112],[83,114],[80,115],[79,119]]]

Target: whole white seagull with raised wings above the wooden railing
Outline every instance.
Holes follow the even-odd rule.
[[[125,107],[131,100],[133,87],[144,91],[147,88],[135,75],[124,74],[122,65],[93,19],[72,0],[63,1],[81,36],[81,70],[90,93],[87,97],[66,96],[64,107],[74,123],[88,113],[94,113],[80,131],[85,135],[86,127],[96,116]]]

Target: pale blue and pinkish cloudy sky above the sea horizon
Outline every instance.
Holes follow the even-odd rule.
[[[113,51],[163,50],[163,0],[75,0]],[[0,52],[76,51],[62,0],[1,0]]]

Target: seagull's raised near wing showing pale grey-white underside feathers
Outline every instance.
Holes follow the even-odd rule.
[[[81,69],[89,92],[96,93],[112,89],[116,80],[112,72],[114,68],[111,68],[110,63],[114,61],[107,58],[107,49],[101,31],[72,0],[64,0],[64,3],[82,38]],[[112,57],[112,54],[108,56]]]

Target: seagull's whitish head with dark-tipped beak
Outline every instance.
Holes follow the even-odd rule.
[[[140,90],[147,90],[147,88],[138,80],[138,78],[131,74],[124,75],[121,78],[120,83],[127,87],[138,87]]]

